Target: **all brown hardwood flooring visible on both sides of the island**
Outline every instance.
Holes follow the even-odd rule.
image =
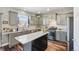
[[[17,51],[14,47],[9,49],[8,46],[0,48],[0,51]],[[48,41],[48,47],[45,51],[67,51],[67,43],[61,41]]]

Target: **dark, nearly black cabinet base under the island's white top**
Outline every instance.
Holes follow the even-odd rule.
[[[47,48],[47,34],[32,41],[32,51],[44,51]]]

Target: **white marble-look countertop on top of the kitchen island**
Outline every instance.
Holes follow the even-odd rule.
[[[15,39],[17,41],[19,41],[21,44],[26,44],[26,43],[33,41],[43,35],[46,35],[47,33],[48,32],[39,31],[39,32],[30,33],[30,34],[26,34],[26,35],[21,35],[21,36],[15,37]]]

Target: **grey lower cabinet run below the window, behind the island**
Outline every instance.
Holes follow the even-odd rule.
[[[19,42],[15,39],[15,37],[20,36],[20,35],[25,35],[29,34],[30,31],[22,31],[22,32],[16,32],[9,34],[9,47],[13,47],[14,45],[17,45]]]

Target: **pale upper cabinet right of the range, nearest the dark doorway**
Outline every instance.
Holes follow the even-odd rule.
[[[67,24],[66,15],[57,15],[57,25],[65,26]]]

